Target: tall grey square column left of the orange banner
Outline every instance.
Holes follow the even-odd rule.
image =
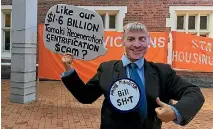
[[[37,0],[12,1],[10,101],[36,99]]]

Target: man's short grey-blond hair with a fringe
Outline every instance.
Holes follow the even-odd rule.
[[[145,31],[148,33],[146,26],[139,22],[133,22],[123,27],[124,34],[129,31]]]

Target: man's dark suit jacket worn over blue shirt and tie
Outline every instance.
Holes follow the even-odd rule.
[[[199,87],[192,85],[179,76],[167,64],[144,63],[148,116],[145,121],[137,110],[129,113],[116,112],[106,99],[109,86],[119,78],[127,77],[122,61],[102,63],[97,74],[84,84],[76,72],[62,81],[72,95],[83,104],[90,104],[102,94],[105,96],[101,110],[101,129],[160,129],[162,122],[155,113],[158,107],[156,98],[169,103],[170,99],[179,102],[173,105],[181,114],[181,125],[188,124],[204,103]]]

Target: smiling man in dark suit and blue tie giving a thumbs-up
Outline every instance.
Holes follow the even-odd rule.
[[[72,56],[65,55],[62,61],[67,72],[62,74],[62,81],[67,89],[83,104],[91,104],[104,95],[101,129],[160,129],[162,122],[170,121],[188,124],[204,103],[199,87],[177,76],[170,65],[144,59],[150,36],[143,24],[127,24],[122,43],[125,53],[121,60],[102,63],[87,84],[71,67]],[[145,93],[141,96],[144,101],[134,111],[118,112],[109,102],[109,87],[120,78],[131,78],[134,70]],[[171,99],[177,103],[170,104]],[[140,107],[144,108],[139,110]]]

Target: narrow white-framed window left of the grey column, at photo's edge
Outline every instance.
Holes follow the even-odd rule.
[[[2,5],[1,15],[2,15],[2,41],[1,41],[1,55],[2,58],[11,58],[11,24],[12,24],[12,15],[11,10],[12,6]]]

